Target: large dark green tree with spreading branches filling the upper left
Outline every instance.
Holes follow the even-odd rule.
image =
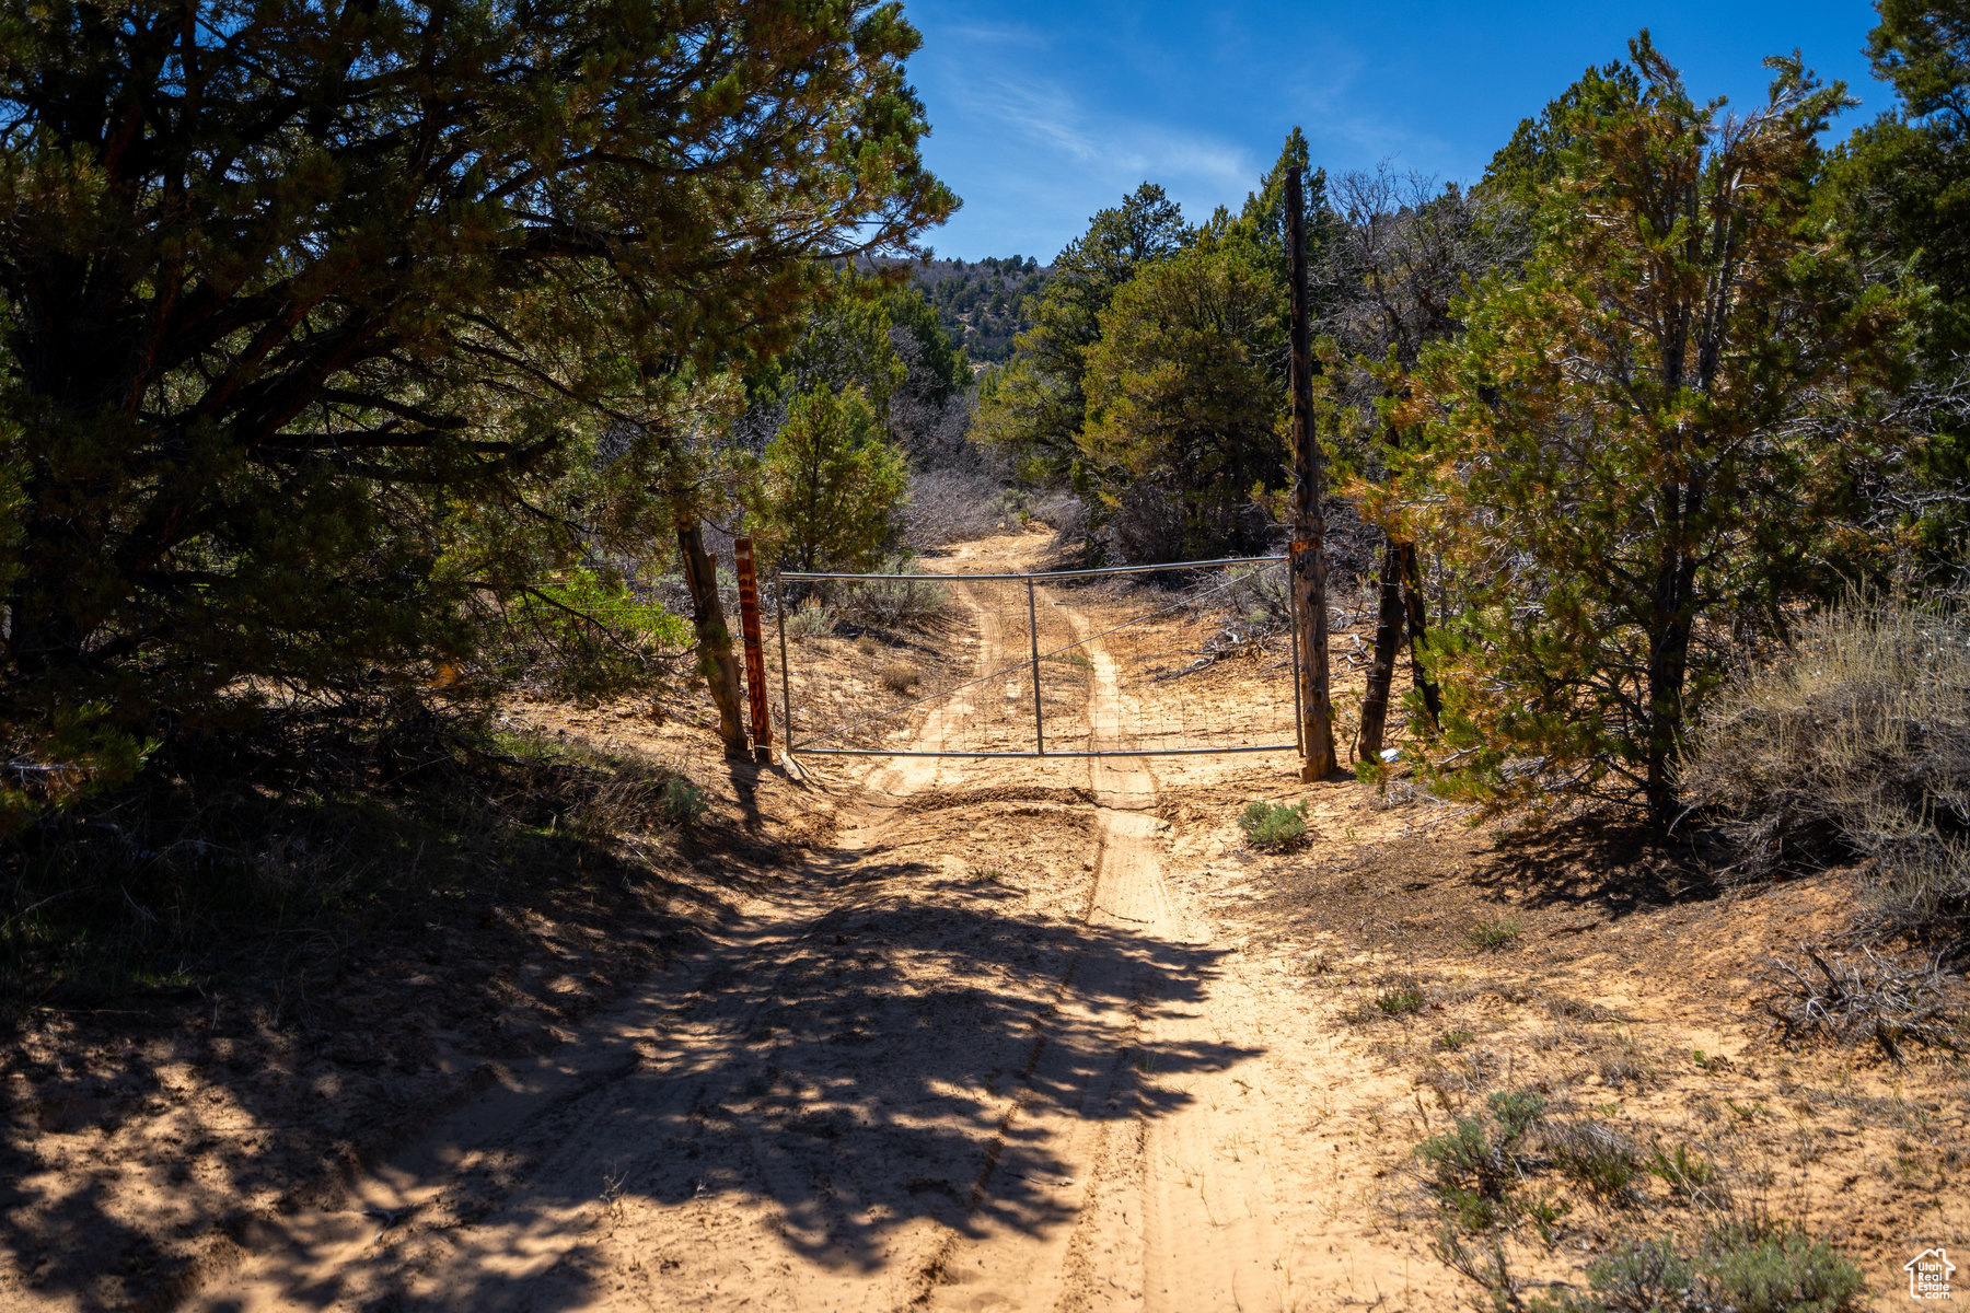
[[[575,551],[605,404],[952,209],[914,47],[886,4],[8,10],[6,719],[465,648],[500,516]]]

